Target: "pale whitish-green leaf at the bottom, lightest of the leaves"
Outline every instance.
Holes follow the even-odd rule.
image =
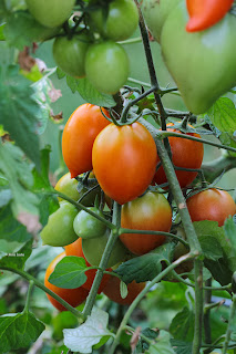
[[[93,308],[91,315],[79,327],[63,330],[64,344],[72,352],[80,352],[81,354],[92,353],[93,345],[98,344],[103,336],[112,335],[106,329],[109,314]]]

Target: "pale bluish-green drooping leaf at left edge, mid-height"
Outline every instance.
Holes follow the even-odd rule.
[[[22,212],[38,215],[39,199],[29,190],[33,185],[31,167],[19,147],[11,143],[0,143],[0,171],[9,181],[14,217],[19,218]]]

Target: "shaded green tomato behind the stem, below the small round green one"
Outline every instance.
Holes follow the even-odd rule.
[[[93,239],[82,239],[83,253],[91,266],[98,267],[100,264],[102,254],[109,240],[109,236],[110,230],[106,230],[103,236]],[[122,242],[117,239],[109,259],[107,268],[124,261],[125,259],[127,259],[129,254],[129,250],[125,249]]]

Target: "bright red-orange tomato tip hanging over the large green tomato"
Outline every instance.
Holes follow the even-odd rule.
[[[219,22],[230,10],[234,0],[186,0],[189,20],[187,32],[198,32]]]

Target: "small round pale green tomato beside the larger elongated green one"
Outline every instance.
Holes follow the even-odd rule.
[[[88,209],[91,211],[94,211],[100,217],[104,217],[102,211],[96,207],[92,207]],[[106,230],[106,226],[104,222],[94,218],[93,216],[88,214],[85,210],[81,210],[76,215],[73,221],[73,228],[74,228],[74,232],[83,239],[91,239],[91,238],[103,236]]]

